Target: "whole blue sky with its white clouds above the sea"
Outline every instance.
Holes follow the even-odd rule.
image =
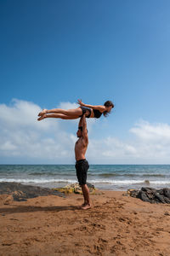
[[[36,124],[36,111],[78,98],[116,106],[88,122],[92,163],[170,163],[169,9],[157,0],[1,1],[0,163],[72,163],[77,121]]]

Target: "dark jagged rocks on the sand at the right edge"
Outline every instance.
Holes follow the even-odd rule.
[[[170,189],[153,189],[153,188],[141,188],[128,189],[127,195],[141,199],[142,201],[148,201],[150,203],[163,203],[170,204]]]

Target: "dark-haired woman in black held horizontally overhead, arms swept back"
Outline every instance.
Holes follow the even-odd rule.
[[[43,109],[42,112],[38,113],[39,118],[38,121],[47,118],[55,118],[55,119],[78,119],[82,117],[82,114],[85,113],[86,118],[96,118],[99,119],[100,116],[103,115],[106,117],[108,113],[111,113],[111,109],[114,108],[114,104],[111,101],[107,101],[104,105],[88,105],[82,103],[82,100],[78,100],[77,102],[80,107],[75,109]]]

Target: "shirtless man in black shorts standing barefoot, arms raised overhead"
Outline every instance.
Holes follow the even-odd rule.
[[[75,157],[76,157],[76,169],[77,169],[77,179],[79,185],[82,187],[82,195],[84,197],[84,203],[82,204],[82,209],[87,210],[91,207],[89,198],[89,189],[86,184],[87,172],[88,172],[88,161],[85,158],[85,154],[88,148],[88,130],[85,115],[82,115],[78,125],[77,131],[77,143],[75,144]]]

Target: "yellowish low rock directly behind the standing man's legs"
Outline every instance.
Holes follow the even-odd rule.
[[[98,189],[95,189],[94,185],[91,183],[87,183],[87,185],[88,185],[90,194],[96,194],[96,190]],[[81,186],[79,186],[78,183],[69,184],[63,188],[56,188],[54,190],[65,193],[65,194],[71,194],[71,193],[82,194],[82,188]]]

